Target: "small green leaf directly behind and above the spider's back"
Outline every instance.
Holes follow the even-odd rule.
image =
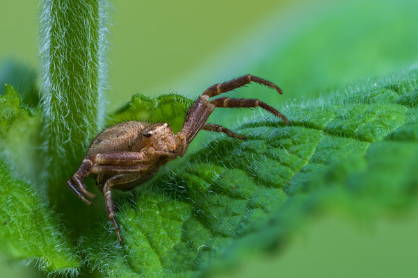
[[[168,122],[177,133],[182,129],[184,116],[193,101],[176,94],[156,98],[134,95],[125,106],[109,116],[109,122],[145,120],[147,122]]]

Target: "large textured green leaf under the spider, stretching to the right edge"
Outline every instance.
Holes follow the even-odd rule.
[[[326,211],[367,221],[403,211],[417,201],[417,101],[412,71],[286,106],[292,126],[252,117],[239,129],[248,140],[222,136],[118,197],[124,245],[107,224],[83,242],[88,261],[107,277],[208,275]]]

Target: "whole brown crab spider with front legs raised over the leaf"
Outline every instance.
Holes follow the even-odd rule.
[[[110,126],[93,139],[79,170],[67,181],[68,187],[91,206],[93,203],[86,199],[86,196],[93,199],[95,195],[88,192],[83,180],[90,174],[97,175],[97,187],[104,195],[108,217],[115,228],[118,241],[122,244],[118,222],[115,220],[112,189],[131,190],[152,178],[161,165],[177,156],[184,156],[191,140],[201,129],[223,132],[227,136],[246,140],[246,136],[236,134],[223,126],[206,123],[216,107],[259,106],[281,117],[285,124],[290,125],[282,113],[258,99],[219,97],[209,101],[211,97],[229,92],[251,81],[266,85],[282,94],[277,85],[248,74],[207,88],[188,110],[182,131],[176,135],[166,123],[131,121]]]

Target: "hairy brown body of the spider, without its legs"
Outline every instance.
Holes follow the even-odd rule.
[[[149,131],[153,131],[152,138],[145,137]],[[155,149],[163,152],[163,155],[156,153]],[[142,152],[141,152],[142,150]],[[132,161],[132,165],[138,166],[138,179],[127,183],[115,184],[112,189],[131,190],[137,184],[143,183],[152,178],[158,172],[161,165],[174,159],[175,151],[175,135],[172,133],[168,124],[150,124],[147,122],[122,122],[108,127],[102,133],[99,133],[91,142],[87,149],[86,158],[90,161],[98,161],[97,154],[104,153],[118,153],[118,161],[113,160],[113,165],[127,165],[129,155],[128,153],[143,154],[141,156],[141,163]],[[100,156],[99,156],[100,157]],[[142,162],[147,161],[146,165]],[[97,166],[98,167],[98,166]],[[101,165],[100,167],[104,167]],[[112,171],[113,170],[113,171]],[[97,172],[97,186],[102,190],[104,182],[109,178],[118,174],[118,168],[106,169],[92,169],[92,172]]]

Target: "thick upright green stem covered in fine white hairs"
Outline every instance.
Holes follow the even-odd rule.
[[[63,213],[74,197],[65,181],[104,120],[107,6],[106,0],[44,0],[40,18],[43,174]]]

